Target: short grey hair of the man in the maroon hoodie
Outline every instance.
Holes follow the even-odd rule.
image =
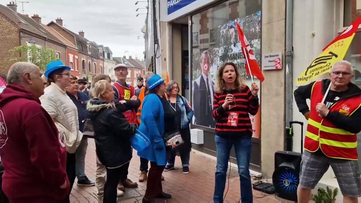
[[[35,77],[35,71],[38,67],[28,62],[16,62],[13,64],[6,76],[8,84],[21,84],[23,82],[24,73],[29,73],[31,77]]]

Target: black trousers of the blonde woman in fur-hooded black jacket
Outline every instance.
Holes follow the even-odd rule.
[[[129,163],[128,163],[129,167]],[[115,169],[107,168],[107,181],[104,186],[104,199],[103,202],[116,202],[116,187],[118,185],[119,180],[121,179],[121,175],[125,170],[126,165]],[[128,171],[128,169],[127,169]]]

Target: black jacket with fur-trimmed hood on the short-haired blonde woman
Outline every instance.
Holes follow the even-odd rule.
[[[132,158],[130,138],[136,127],[129,124],[123,113],[106,101],[89,100],[87,110],[94,129],[96,154],[107,168],[117,168]]]

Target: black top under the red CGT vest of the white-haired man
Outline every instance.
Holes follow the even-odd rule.
[[[331,82],[330,79],[322,80],[323,94],[326,93],[326,90],[330,85],[330,82]],[[306,103],[306,99],[311,98],[311,92],[314,83],[315,82],[305,86],[299,86],[294,91],[294,99],[296,101],[299,112],[301,112],[302,114],[305,114],[306,112],[310,111]],[[348,89],[344,92],[343,96],[339,98],[339,100],[347,99],[359,94],[361,94],[361,90],[355,84],[349,83]],[[351,116],[345,116],[339,112],[329,112],[326,118],[331,120],[331,122],[337,128],[344,129],[352,133],[358,133],[361,131],[361,125],[359,124],[359,121],[361,120],[361,108],[358,108]]]

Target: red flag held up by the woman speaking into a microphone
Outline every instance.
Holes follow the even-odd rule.
[[[237,22],[236,22],[236,25],[237,25],[238,37],[240,40],[240,44],[242,45],[243,57],[245,59],[247,57],[247,59],[248,59],[248,62],[247,62],[247,60],[245,60],[245,68],[246,68],[247,74],[251,75],[251,73],[250,73],[250,70],[251,70],[252,75],[256,76],[260,80],[260,82],[263,82],[265,80],[265,77],[263,76],[262,71],[259,68],[256,57],[254,57],[253,50],[251,49],[251,46],[249,45],[245,34],[242,32],[242,29],[240,29]]]

